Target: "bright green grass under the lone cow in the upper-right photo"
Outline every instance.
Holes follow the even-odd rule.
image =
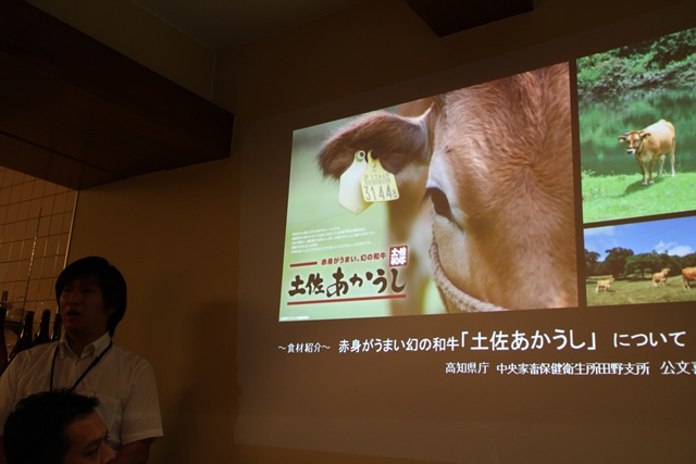
[[[669,165],[669,162],[666,163]],[[637,170],[637,166],[636,166]],[[667,170],[666,170],[667,171]],[[696,173],[663,174],[650,186],[641,174],[582,176],[583,222],[622,220],[696,210]]]

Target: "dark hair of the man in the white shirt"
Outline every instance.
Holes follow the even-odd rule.
[[[69,264],[55,280],[55,301],[60,305],[63,289],[75,280],[94,278],[101,289],[109,315],[109,335],[113,337],[116,326],[126,313],[126,280],[119,269],[101,256],[87,256]]]

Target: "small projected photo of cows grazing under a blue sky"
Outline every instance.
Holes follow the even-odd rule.
[[[585,229],[588,306],[696,301],[696,216]]]

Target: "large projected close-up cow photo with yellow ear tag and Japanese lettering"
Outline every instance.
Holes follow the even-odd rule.
[[[297,130],[279,319],[576,306],[571,147],[567,63]]]

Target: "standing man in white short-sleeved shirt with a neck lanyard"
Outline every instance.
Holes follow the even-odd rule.
[[[103,258],[84,258],[58,277],[55,299],[63,336],[10,363],[0,377],[0,424],[23,398],[66,388],[99,399],[115,464],[147,463],[150,444],[163,435],[154,374],[146,360],[112,341],[126,311],[125,279]]]

